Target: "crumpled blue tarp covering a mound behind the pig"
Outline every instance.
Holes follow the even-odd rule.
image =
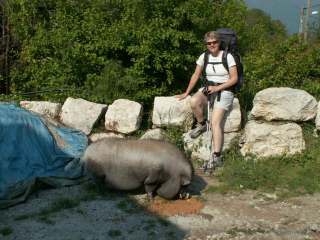
[[[87,179],[81,161],[86,135],[47,121],[68,143],[60,149],[41,119],[47,121],[42,115],[0,102],[0,209],[23,201],[43,184],[62,187]]]

